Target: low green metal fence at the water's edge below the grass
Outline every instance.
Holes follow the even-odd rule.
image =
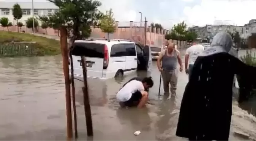
[[[0,57],[35,55],[35,42],[12,42],[0,45]]]

